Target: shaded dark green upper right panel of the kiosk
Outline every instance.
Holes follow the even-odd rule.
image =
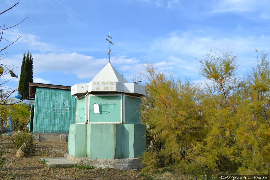
[[[141,98],[125,96],[125,124],[141,124]]]

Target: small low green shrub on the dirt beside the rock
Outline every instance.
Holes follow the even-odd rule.
[[[15,137],[11,138],[15,149],[19,149],[21,145],[25,146],[25,153],[28,153],[33,147],[34,137],[32,133],[28,133],[26,131],[22,131],[18,133]]]

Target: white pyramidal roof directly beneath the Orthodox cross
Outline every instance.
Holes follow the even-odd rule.
[[[116,81],[121,83],[128,83],[120,72],[118,72],[111,63],[108,63],[100,72],[93,78],[92,81]]]

